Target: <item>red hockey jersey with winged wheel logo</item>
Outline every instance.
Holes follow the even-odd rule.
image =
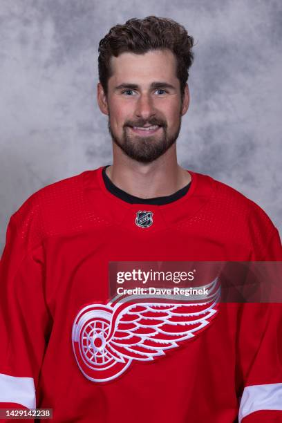
[[[103,335],[115,312],[109,262],[282,261],[258,205],[189,172],[187,194],[165,205],[114,196],[101,167],[13,214],[0,265],[2,407],[53,408],[56,423],[282,422],[279,303],[218,303],[203,330],[169,348],[149,306],[133,304],[115,339]]]

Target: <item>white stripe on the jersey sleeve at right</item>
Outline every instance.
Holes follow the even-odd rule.
[[[239,423],[246,415],[260,410],[282,411],[282,383],[246,386],[239,408]]]

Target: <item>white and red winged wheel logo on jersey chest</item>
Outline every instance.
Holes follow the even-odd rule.
[[[73,323],[73,352],[87,379],[107,382],[132,361],[152,361],[207,328],[218,310],[220,287],[209,285],[209,301],[122,302],[84,307]],[[151,296],[150,296],[151,297]],[[138,298],[140,300],[140,297]],[[129,301],[131,303],[129,304]]]

